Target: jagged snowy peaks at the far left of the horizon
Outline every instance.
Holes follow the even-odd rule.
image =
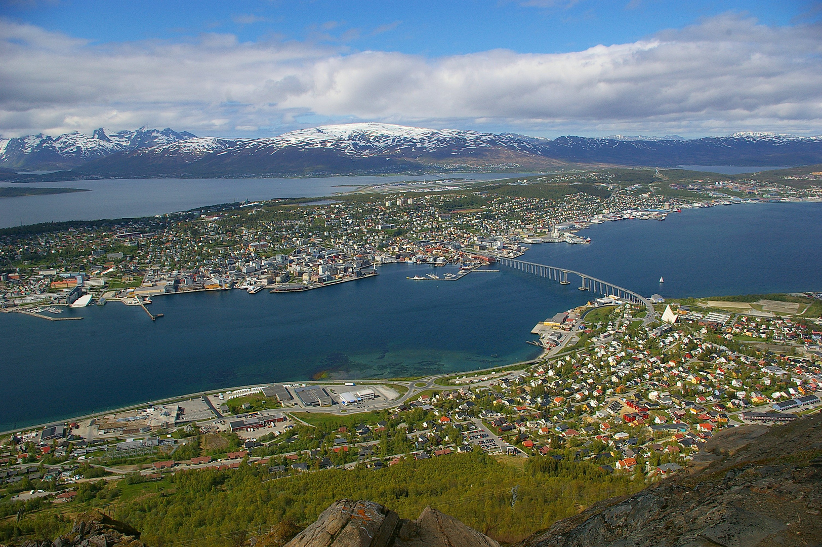
[[[49,137],[42,133],[0,139],[0,167],[16,170],[71,169],[119,152],[168,145],[195,137],[189,132],[162,131],[140,127],[136,131],[112,132],[100,127],[89,135],[80,132]]]

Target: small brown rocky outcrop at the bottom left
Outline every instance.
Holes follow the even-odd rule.
[[[20,547],[145,547],[140,532],[101,512],[78,515],[72,531],[52,541],[25,540]]]

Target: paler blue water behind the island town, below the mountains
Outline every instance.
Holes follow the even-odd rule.
[[[318,178],[119,178],[59,183],[0,183],[11,188],[84,188],[90,192],[0,199],[0,228],[62,220],[163,215],[196,207],[275,197],[321,197],[363,186],[432,178],[495,180],[522,173],[450,173]]]

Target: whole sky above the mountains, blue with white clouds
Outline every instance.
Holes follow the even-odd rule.
[[[822,133],[822,2],[2,2],[0,133]]]

